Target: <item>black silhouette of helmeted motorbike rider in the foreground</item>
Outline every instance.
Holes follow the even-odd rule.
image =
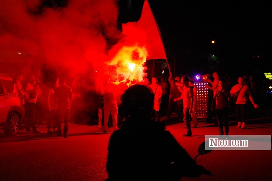
[[[154,94],[147,86],[133,85],[121,97],[125,122],[113,132],[108,146],[106,180],[179,180],[199,177],[205,170],[165,130],[152,120]]]

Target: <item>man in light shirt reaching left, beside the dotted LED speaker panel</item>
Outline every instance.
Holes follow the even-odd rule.
[[[194,92],[193,87],[189,86],[189,78],[187,76],[183,76],[181,78],[182,87],[182,96],[174,99],[175,102],[179,102],[177,100],[183,99],[183,121],[186,124],[187,133],[182,136],[192,136],[191,130],[191,113],[193,112],[193,102],[194,102]]]

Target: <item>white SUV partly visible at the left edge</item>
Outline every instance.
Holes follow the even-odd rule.
[[[22,109],[13,79],[0,74],[0,128],[6,135],[15,136],[20,129]]]

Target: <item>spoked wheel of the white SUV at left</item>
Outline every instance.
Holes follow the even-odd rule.
[[[11,113],[8,120],[7,126],[4,129],[6,135],[15,136],[19,132],[21,120],[16,113]]]

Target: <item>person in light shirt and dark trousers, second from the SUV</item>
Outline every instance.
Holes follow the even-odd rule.
[[[24,109],[25,109],[25,129],[26,131],[31,131],[35,133],[40,133],[41,131],[37,129],[35,125],[35,116],[36,116],[36,102],[37,102],[37,94],[36,90],[34,89],[34,85],[36,84],[37,79],[34,75],[29,77],[29,81],[27,82],[24,92]]]

